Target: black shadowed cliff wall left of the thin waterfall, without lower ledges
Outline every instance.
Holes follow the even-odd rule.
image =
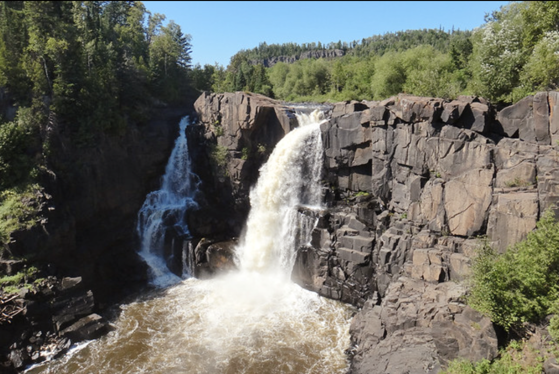
[[[50,264],[50,275],[80,276],[101,304],[126,296],[146,279],[136,254],[136,217],[159,178],[188,110],[161,109],[144,123],[94,145],[72,143],[55,120],[44,129],[51,154],[41,226],[12,234],[10,252]]]

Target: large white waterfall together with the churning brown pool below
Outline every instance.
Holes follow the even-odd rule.
[[[297,246],[308,240],[297,228],[297,208],[320,205],[321,120],[318,112],[300,115],[301,125],[277,144],[260,170],[237,248],[238,271],[211,280],[188,277],[122,305],[111,333],[30,372],[347,372],[344,351],[350,345],[353,308],[304,290],[289,277]],[[154,196],[146,200],[143,222],[150,222],[147,217],[154,213],[160,198],[159,193]],[[174,209],[169,211],[174,215]],[[155,215],[154,226],[159,220]],[[313,223],[305,222],[309,232]]]

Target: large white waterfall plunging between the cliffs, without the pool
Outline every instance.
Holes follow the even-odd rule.
[[[237,248],[244,271],[278,271],[290,275],[295,262],[301,220],[297,208],[319,206],[323,145],[321,111],[297,114],[299,127],[274,148],[250,192],[251,210]],[[312,230],[312,228],[311,228]]]

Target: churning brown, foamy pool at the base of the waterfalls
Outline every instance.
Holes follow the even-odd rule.
[[[353,308],[259,273],[191,278],[121,306],[114,330],[27,373],[343,374]]]

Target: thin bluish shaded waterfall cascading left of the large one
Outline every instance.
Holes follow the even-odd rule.
[[[169,236],[186,239],[190,236],[185,221],[187,210],[195,208],[194,197],[198,191],[198,178],[191,171],[188,154],[186,127],[190,123],[184,117],[179,124],[179,136],[173,152],[169,157],[161,188],[150,192],[138,213],[137,231],[140,238],[140,255],[144,258],[151,272],[151,282],[156,286],[169,286],[182,278],[170,270],[176,262],[173,250],[169,246]],[[172,240],[170,240],[172,241]],[[183,248],[184,245],[183,244]],[[167,248],[166,248],[167,247]],[[172,246],[174,247],[174,246]],[[188,264],[190,253],[188,246],[182,250],[182,259],[178,263]],[[188,277],[188,269],[182,269],[182,277]]]

